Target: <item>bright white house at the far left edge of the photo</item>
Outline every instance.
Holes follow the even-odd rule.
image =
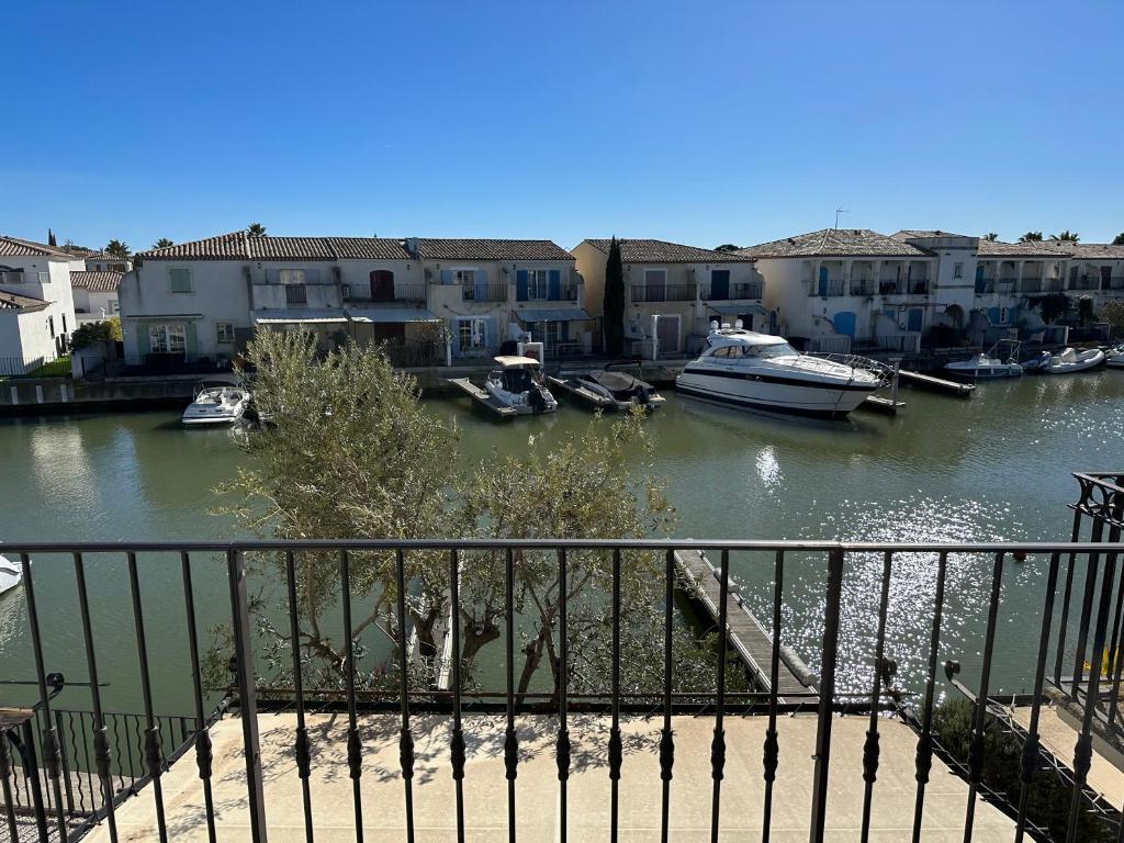
[[[71,256],[60,248],[0,236],[0,360],[24,374],[66,348],[74,330]]]

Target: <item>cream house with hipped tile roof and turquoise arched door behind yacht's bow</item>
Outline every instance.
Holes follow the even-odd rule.
[[[738,251],[764,278],[778,333],[808,351],[915,352],[935,325],[963,325],[975,237],[826,228]],[[948,253],[942,266],[942,253]],[[945,289],[941,289],[944,287]]]

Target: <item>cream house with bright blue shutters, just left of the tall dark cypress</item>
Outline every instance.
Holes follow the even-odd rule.
[[[404,245],[424,268],[453,360],[489,359],[507,341],[542,342],[547,360],[597,347],[574,257],[556,243],[409,237]]]

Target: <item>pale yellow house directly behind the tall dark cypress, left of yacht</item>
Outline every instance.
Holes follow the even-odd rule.
[[[768,329],[762,280],[754,261],[681,243],[624,238],[620,261],[625,281],[625,337],[645,357],[695,353],[717,320]],[[586,239],[573,248],[586,281],[590,312],[605,310],[608,239]],[[655,348],[653,348],[653,344]]]

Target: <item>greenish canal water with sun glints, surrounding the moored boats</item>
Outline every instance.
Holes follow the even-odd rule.
[[[1124,372],[1024,378],[981,384],[971,400],[904,390],[897,417],[852,414],[846,422],[771,418],[669,396],[646,424],[654,472],[678,509],[677,535],[695,538],[870,541],[1064,540],[1076,498],[1070,472],[1124,462]],[[554,416],[497,425],[465,401],[428,406],[456,417],[465,464],[579,436],[591,416],[563,406]],[[0,540],[212,540],[235,535],[211,514],[214,488],[245,459],[229,430],[183,429],[174,413],[0,422]],[[750,605],[769,616],[771,558],[735,556]],[[139,710],[136,638],[125,561],[91,558],[99,667],[107,706]],[[916,687],[926,658],[935,560],[907,556],[894,569],[889,652],[900,681]],[[870,652],[880,559],[853,559],[844,586],[841,664]],[[950,560],[941,660],[958,659],[976,683],[991,563]],[[229,613],[225,570],[196,565],[201,634]],[[35,564],[48,670],[85,678],[74,574],[69,560]],[[1045,578],[1044,561],[1009,562],[1004,575],[992,686],[1028,689]],[[140,571],[156,707],[190,711],[190,676],[178,560]],[[815,668],[824,601],[822,560],[786,571],[783,636]],[[497,651],[497,655],[499,651]],[[867,658],[869,661],[869,658]],[[0,679],[34,679],[24,597],[0,598]],[[845,688],[867,686],[845,669]],[[13,703],[33,689],[0,687]],[[67,691],[63,705],[88,698]]]

